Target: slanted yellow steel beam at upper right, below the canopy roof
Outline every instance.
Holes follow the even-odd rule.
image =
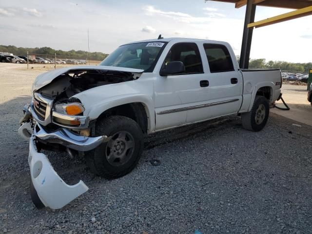
[[[295,11],[291,11],[279,16],[274,16],[271,18],[268,18],[266,20],[260,20],[254,23],[250,23],[248,24],[247,27],[251,28],[251,27],[263,27],[263,26],[267,26],[267,25],[271,25],[274,23],[279,23],[279,22],[283,22],[283,21],[287,21],[287,20],[293,20],[293,19],[297,19],[300,17],[304,17],[304,16],[309,16],[312,15],[312,6],[308,6],[299,10],[295,10]]]

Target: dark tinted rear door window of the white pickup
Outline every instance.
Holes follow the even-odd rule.
[[[228,48],[221,44],[204,44],[211,73],[234,71]]]

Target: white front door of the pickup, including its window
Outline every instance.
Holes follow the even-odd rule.
[[[203,106],[209,100],[209,83],[197,44],[174,44],[162,68],[170,61],[182,61],[185,72],[159,77],[155,82],[156,131],[209,116],[208,107]]]

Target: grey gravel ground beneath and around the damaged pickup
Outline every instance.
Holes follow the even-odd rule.
[[[0,234],[312,233],[312,127],[274,114],[258,133],[230,116],[150,135],[136,169],[114,180],[91,174],[83,158],[49,154],[65,182],[81,179],[89,191],[37,210],[17,133],[33,78],[2,70]]]

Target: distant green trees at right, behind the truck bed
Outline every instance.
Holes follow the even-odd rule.
[[[237,57],[239,63],[239,57]],[[286,71],[298,71],[298,72],[309,72],[312,69],[312,62],[307,63],[292,63],[285,61],[268,61],[266,59],[250,59],[250,68],[279,68]]]

